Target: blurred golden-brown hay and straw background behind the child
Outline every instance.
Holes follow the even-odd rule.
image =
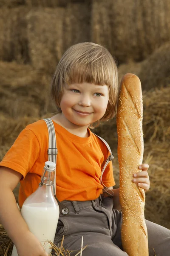
[[[141,80],[143,162],[150,165],[145,218],[170,229],[169,0],[0,0],[0,160],[26,125],[56,111],[51,77],[64,51],[85,41],[115,56],[119,82],[125,73]],[[118,187],[116,118],[95,132],[111,146]],[[18,186],[16,200],[17,193]],[[0,226],[0,256],[8,244]]]

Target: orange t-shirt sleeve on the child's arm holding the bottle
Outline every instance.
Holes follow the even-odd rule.
[[[22,179],[24,179],[26,174],[31,171],[39,155],[40,144],[36,135],[30,129],[25,128],[3,157],[0,166],[5,166],[21,173],[23,175]]]

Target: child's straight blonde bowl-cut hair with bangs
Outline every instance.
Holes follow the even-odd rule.
[[[60,102],[65,84],[82,82],[108,85],[108,106],[100,121],[113,118],[119,93],[118,72],[116,61],[105,47],[91,42],[79,43],[68,48],[62,55],[51,84],[51,97],[58,112],[62,112]]]

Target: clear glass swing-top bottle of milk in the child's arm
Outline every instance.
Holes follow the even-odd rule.
[[[52,249],[46,240],[54,242],[59,218],[59,206],[53,194],[54,175],[55,163],[45,162],[39,187],[26,199],[21,209],[29,230],[39,239],[48,254]],[[15,246],[12,256],[18,256]]]

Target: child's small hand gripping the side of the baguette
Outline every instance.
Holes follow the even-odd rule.
[[[138,166],[142,172],[137,172],[133,174],[133,182],[137,183],[137,185],[144,189],[146,192],[149,190],[150,187],[150,180],[149,180],[149,175],[147,173],[147,170],[149,168],[149,165],[147,163],[142,163],[142,165]]]

